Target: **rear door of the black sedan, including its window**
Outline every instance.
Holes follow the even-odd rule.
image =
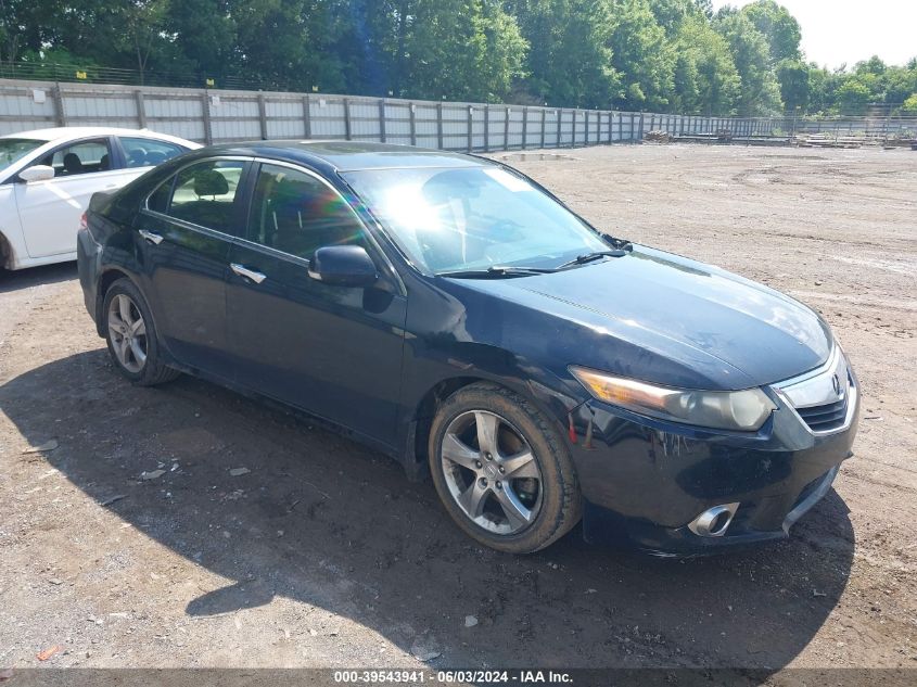
[[[144,278],[160,336],[179,361],[232,379],[226,279],[240,217],[243,158],[191,164],[163,182],[137,218]]]

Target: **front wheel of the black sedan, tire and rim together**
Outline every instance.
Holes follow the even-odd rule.
[[[580,483],[563,440],[508,389],[476,383],[449,396],[433,419],[428,455],[446,511],[484,546],[531,554],[580,521]]]

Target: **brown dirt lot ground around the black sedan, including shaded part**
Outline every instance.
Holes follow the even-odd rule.
[[[513,164],[835,328],[865,394],[856,457],[789,542],[484,550],[432,485],[307,419],[126,383],[75,266],[2,273],[0,666],[59,647],[42,665],[917,667],[917,153],[564,154]]]

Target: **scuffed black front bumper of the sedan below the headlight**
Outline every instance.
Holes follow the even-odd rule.
[[[786,538],[852,456],[858,383],[849,371],[846,418],[813,431],[786,393],[756,433],[717,432],[636,416],[590,400],[572,417],[571,445],[585,499],[584,536],[661,555],[691,556]],[[738,504],[722,536],[688,525],[708,509]]]

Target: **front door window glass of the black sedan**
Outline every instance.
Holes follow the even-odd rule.
[[[334,190],[303,171],[263,165],[249,238],[305,259],[328,245],[365,245],[362,226]]]

